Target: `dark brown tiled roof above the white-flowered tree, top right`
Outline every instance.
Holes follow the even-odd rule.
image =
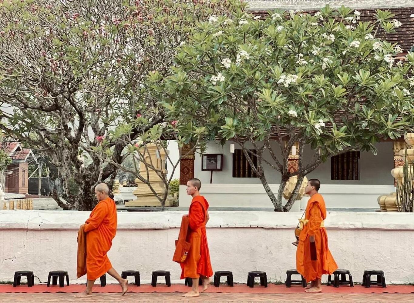
[[[411,2],[412,3],[412,2]],[[375,21],[375,10],[376,9],[359,9],[361,12],[361,21]],[[310,14],[316,12],[315,10],[309,10]],[[391,8],[390,12],[395,14],[393,19],[397,19],[402,23],[402,26],[395,29],[396,33],[389,33],[385,35],[385,40],[390,43],[398,43],[401,45],[404,52],[410,50],[412,45],[414,45],[414,17],[410,17],[414,14],[414,6],[412,7],[403,7],[403,8]],[[265,18],[267,16],[267,10],[254,10],[251,11],[252,14],[256,16],[262,16]],[[382,37],[384,32],[378,30],[377,37]]]

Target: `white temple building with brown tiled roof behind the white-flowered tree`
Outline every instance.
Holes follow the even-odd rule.
[[[275,8],[314,12],[326,4],[331,7],[345,5],[361,13],[361,21],[375,20],[375,10],[390,10],[402,23],[396,33],[385,39],[401,45],[403,52],[396,59],[404,57],[414,45],[414,4],[412,1],[373,1],[373,0],[261,0],[247,1],[252,14],[265,17],[268,10]],[[320,193],[325,197],[327,208],[358,208],[379,210],[378,196],[395,191],[395,179],[390,174],[394,167],[402,166],[400,150],[405,148],[404,138],[400,141],[383,141],[376,145],[378,154],[350,151],[331,157],[320,164],[308,178],[318,178],[322,183]],[[208,198],[212,207],[273,208],[270,198],[260,180],[254,175],[246,157],[237,144],[228,141],[224,146],[211,142],[204,155],[190,154],[180,163],[180,206],[187,206],[190,199],[185,195],[188,179],[197,177],[202,181],[202,194]],[[184,148],[185,149],[185,148]],[[183,151],[185,154],[185,151]],[[312,155],[305,147],[304,161],[309,162]],[[308,159],[306,159],[308,155]],[[267,160],[271,160],[268,155]],[[254,159],[253,159],[254,160]],[[297,169],[298,156],[291,154],[289,169]],[[277,195],[280,173],[265,168],[267,181]],[[306,198],[296,202],[292,211],[306,206]]]

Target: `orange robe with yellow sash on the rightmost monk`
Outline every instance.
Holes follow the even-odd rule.
[[[322,195],[313,195],[306,206],[305,219],[309,220],[299,236],[296,251],[296,270],[306,282],[320,279],[323,274],[332,274],[338,266],[328,248],[328,236],[325,227],[320,227],[326,218],[325,201]],[[309,237],[315,236],[316,260],[311,259]]]

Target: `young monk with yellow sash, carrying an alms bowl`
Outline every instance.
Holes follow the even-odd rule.
[[[310,199],[306,206],[305,219],[301,219],[303,229],[296,251],[296,269],[306,282],[310,282],[305,289],[309,293],[321,292],[322,275],[332,274],[338,268],[328,248],[324,225],[326,207],[322,195],[318,193],[319,188],[318,179],[310,179],[305,188]]]

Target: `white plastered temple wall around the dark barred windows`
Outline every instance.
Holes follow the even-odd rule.
[[[196,154],[194,163],[194,176],[202,182],[202,194],[206,196],[211,206],[215,207],[269,207],[272,202],[265,193],[258,178],[233,178],[233,155],[230,153],[230,143],[224,146],[215,143],[207,145],[205,153],[223,154],[223,171],[213,172],[210,184],[210,172],[201,170],[201,157]],[[377,155],[361,152],[360,180],[331,180],[331,163],[327,161],[320,164],[308,179],[318,178],[321,181],[320,193],[323,194],[327,208],[378,208],[377,198],[394,190],[394,179],[391,169],[394,167],[394,153],[392,142],[380,142],[376,145]],[[239,148],[236,144],[236,148]],[[274,150],[279,146],[274,144]],[[305,148],[304,163],[309,163],[313,150]],[[270,155],[266,155],[272,162]],[[268,165],[264,165],[267,181],[273,193],[279,189],[280,174]],[[188,206],[190,199],[186,197],[185,186],[180,187],[180,206]],[[306,206],[307,198],[295,203],[293,210]]]

